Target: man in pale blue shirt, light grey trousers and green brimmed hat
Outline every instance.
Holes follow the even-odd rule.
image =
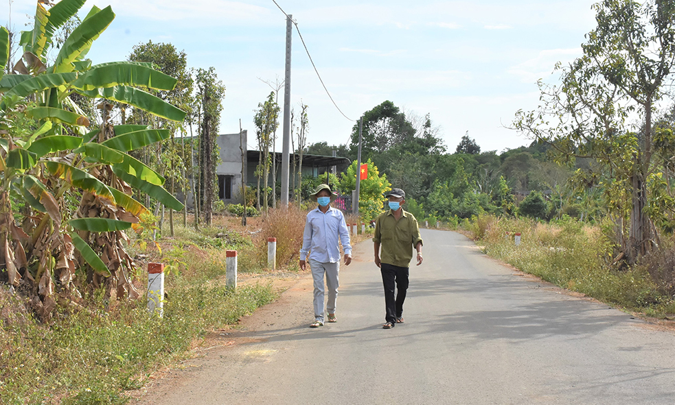
[[[328,303],[325,309],[328,311],[328,321],[336,322],[335,308],[338,295],[340,271],[340,249],[338,238],[345,251],[345,266],[352,262],[352,245],[350,245],[350,232],[345,223],[345,216],[341,210],[332,208],[332,203],[337,195],[330,191],[328,184],[320,184],[313,194],[312,201],[319,206],[307,214],[305,232],[300,249],[300,268],[305,269],[308,261],[314,278],[314,322],[310,328],[323,326],[323,276],[328,286]],[[309,258],[307,257],[309,254]]]

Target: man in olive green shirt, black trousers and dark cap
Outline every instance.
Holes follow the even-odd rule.
[[[392,188],[385,197],[389,210],[382,212],[375,220],[375,265],[380,267],[382,285],[385,287],[385,308],[387,310],[382,328],[391,329],[396,323],[403,323],[403,302],[408,289],[408,267],[413,258],[413,247],[417,251],[417,266],[422,264],[422,237],[417,219],[401,208],[405,203],[405,192]],[[382,258],[380,259],[380,246]],[[395,290],[398,289],[396,297]]]

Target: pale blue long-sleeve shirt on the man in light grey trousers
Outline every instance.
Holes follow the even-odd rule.
[[[350,245],[350,231],[345,223],[345,216],[341,210],[328,207],[328,211],[321,212],[319,207],[307,213],[305,232],[300,249],[300,260],[306,260],[307,254],[312,260],[322,263],[340,261],[338,238],[342,242],[345,254],[352,255]]]

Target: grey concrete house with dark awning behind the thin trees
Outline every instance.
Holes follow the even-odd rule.
[[[247,147],[247,131],[242,131],[242,134],[222,134],[216,138],[218,148],[220,149],[220,162],[216,166],[216,175],[218,176],[218,198],[222,199],[225,204],[241,204],[242,198],[242,184],[245,182],[247,186],[254,187],[258,185],[258,177],[255,177],[256,167],[260,162],[260,152],[255,150],[248,150]],[[242,163],[242,154],[246,156]],[[290,155],[290,173],[293,176],[293,156]],[[295,158],[299,158],[295,154]],[[243,171],[242,171],[243,164]],[[276,153],[277,164],[277,178],[276,182],[281,182],[281,164],[282,153]],[[341,172],[346,169],[352,162],[347,158],[340,158],[334,156],[318,156],[318,155],[302,155],[302,176],[303,177],[319,177],[325,173],[335,169],[336,172]],[[243,179],[242,179],[243,173]],[[296,171],[297,173],[297,171]],[[268,186],[274,184],[272,177],[272,170],[270,168],[270,175],[268,179]],[[297,175],[296,175],[297,182]],[[262,186],[262,184],[261,184]],[[289,180],[289,188],[293,187],[293,178]],[[178,198],[183,201],[183,195],[179,194]],[[187,194],[187,206],[192,208],[194,206],[192,193]]]

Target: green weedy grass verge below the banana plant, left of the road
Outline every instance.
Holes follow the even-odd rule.
[[[123,404],[122,391],[184,356],[194,339],[275,298],[269,284],[232,291],[187,280],[168,294],[163,319],[148,313],[144,299],[104,310],[100,298],[88,297],[89,309],[61,311],[52,327],[28,315],[0,323],[0,403]]]

